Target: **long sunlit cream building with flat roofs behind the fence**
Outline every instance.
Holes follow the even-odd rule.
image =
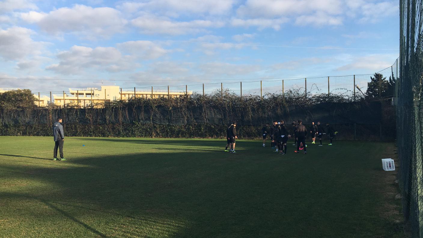
[[[126,100],[132,97],[145,97],[145,98],[157,98],[157,97],[182,97],[187,93],[192,94],[192,91],[171,91],[171,90],[140,90],[134,88],[134,90],[128,91],[128,89],[121,89],[119,86],[102,86],[98,88],[87,88],[87,89],[69,89],[69,94],[63,91],[63,94],[54,94],[55,105],[90,105],[96,103],[110,102],[113,100]]]

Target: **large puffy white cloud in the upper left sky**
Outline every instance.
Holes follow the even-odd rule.
[[[88,39],[109,37],[123,32],[127,23],[114,8],[92,8],[84,5],[59,8],[48,14],[30,11],[22,13],[21,17],[29,23],[36,23],[41,30],[53,35],[74,33]]]

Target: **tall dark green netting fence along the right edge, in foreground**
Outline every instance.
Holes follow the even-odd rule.
[[[412,237],[423,238],[423,8],[400,0],[397,140],[403,213]]]

